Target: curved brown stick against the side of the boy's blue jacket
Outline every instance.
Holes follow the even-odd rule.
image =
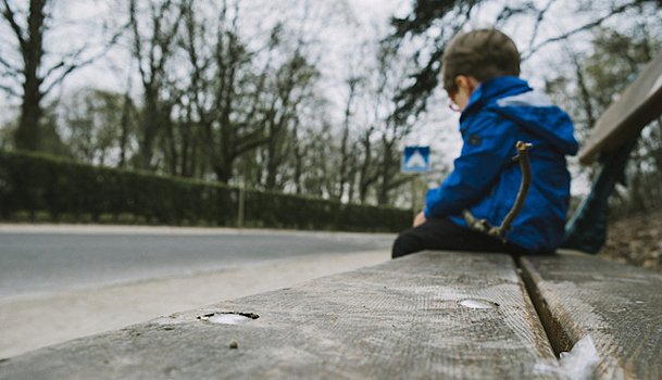
[[[500,238],[504,243],[505,233],[512,230],[512,225],[522,208],[524,208],[524,201],[526,200],[526,194],[528,193],[528,188],[532,182],[532,173],[530,173],[530,162],[528,160],[528,149],[533,148],[530,143],[525,143],[522,141],[517,141],[515,145],[517,149],[517,155],[513,157],[513,161],[520,161],[520,167],[522,168],[522,185],[520,186],[520,192],[517,192],[517,198],[515,199],[515,203],[511,211],[505,215],[503,221],[501,221],[501,226],[494,227],[485,219],[476,219],[469,208],[462,211],[462,216],[469,227],[474,230],[487,233],[489,236]]]

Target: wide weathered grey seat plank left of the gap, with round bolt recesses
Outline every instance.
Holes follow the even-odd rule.
[[[259,318],[205,320],[228,312]],[[425,252],[21,355],[0,379],[554,379],[557,368],[509,256]]]

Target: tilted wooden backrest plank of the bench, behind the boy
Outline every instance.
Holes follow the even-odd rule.
[[[589,139],[579,151],[579,162],[588,165],[596,155],[610,152],[639,135],[662,114],[662,52],[646,65],[617,101],[596,122]]]

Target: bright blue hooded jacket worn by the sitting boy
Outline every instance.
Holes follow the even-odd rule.
[[[450,217],[469,228],[459,216],[469,208],[476,218],[499,226],[522,181],[520,164],[512,161],[515,144],[530,142],[533,182],[507,239],[530,253],[553,252],[563,239],[570,202],[565,155],[578,148],[567,114],[526,81],[499,77],[476,88],[460,117],[460,130],[462,153],[441,186],[427,192],[425,216]]]

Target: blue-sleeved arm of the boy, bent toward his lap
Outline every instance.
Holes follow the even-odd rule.
[[[519,128],[496,114],[486,113],[467,126],[461,155],[439,188],[427,191],[425,217],[458,215],[483,199],[499,173],[513,165]]]

